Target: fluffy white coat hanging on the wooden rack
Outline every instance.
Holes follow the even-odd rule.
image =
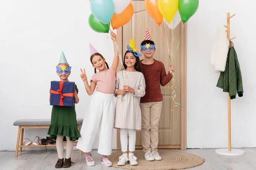
[[[225,71],[229,44],[226,28],[221,25],[217,30],[211,53],[211,63],[216,71]]]

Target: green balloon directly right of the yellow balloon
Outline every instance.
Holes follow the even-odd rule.
[[[199,0],[179,0],[179,12],[183,23],[186,23],[197,11]]]

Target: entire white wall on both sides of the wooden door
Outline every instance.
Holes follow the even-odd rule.
[[[253,37],[256,36],[256,3],[239,0],[200,1],[187,29],[187,144],[188,148],[227,147],[227,94],[215,87],[218,73],[210,64],[215,32],[226,23],[226,12],[236,13],[231,20],[231,37],[241,66],[244,96],[232,100],[232,146],[256,147],[256,59]],[[89,0],[8,0],[0,2],[0,150],[15,150],[16,119],[49,119],[50,81],[58,80],[55,65],[61,50],[72,65],[70,81],[79,88],[77,117],[83,118],[90,96],[79,74],[86,68],[91,77],[89,42],[105,56],[113,58],[113,45],[107,34],[99,34],[88,25]],[[109,37],[109,36],[108,36]],[[252,56],[252,57],[250,57]],[[195,99],[198,97],[198,99]],[[25,130],[26,137],[46,137],[47,130]],[[116,133],[114,134],[116,136]],[[96,142],[97,144],[97,142]],[[95,144],[94,148],[97,147]],[[113,139],[113,148],[116,137]],[[38,148],[33,148],[33,150]]]

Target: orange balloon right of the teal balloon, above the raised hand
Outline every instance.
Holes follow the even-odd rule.
[[[120,26],[123,26],[127,24],[132,16],[133,16],[134,8],[133,5],[130,3],[125,10],[122,11],[120,14],[113,14],[113,17],[111,19],[111,26],[113,29],[117,29]]]

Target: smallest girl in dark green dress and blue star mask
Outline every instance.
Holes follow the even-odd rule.
[[[70,70],[71,67],[67,63],[67,59],[64,56],[64,53],[62,51],[61,59],[59,61],[59,64],[56,66],[57,74],[60,77],[60,83],[69,82],[68,77],[70,76]],[[52,90],[50,90],[50,93],[52,93]],[[75,85],[74,89],[74,98],[75,103],[77,104],[79,102],[78,97],[78,88]],[[49,98],[49,101],[51,99],[51,96]],[[74,143],[73,141],[76,141],[81,137],[77,122],[76,122],[76,109],[75,105],[73,106],[52,106],[52,117],[51,117],[51,125],[49,127],[48,133],[47,133],[51,139],[56,140],[56,147],[57,147],[57,153],[58,153],[58,161],[55,164],[56,168],[61,167],[71,167],[71,153],[73,151]],[[67,153],[66,158],[64,161],[63,158],[63,141],[67,141]]]

